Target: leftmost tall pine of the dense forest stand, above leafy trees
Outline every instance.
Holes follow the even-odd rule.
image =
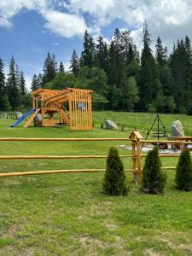
[[[84,50],[81,55],[81,66],[94,67],[96,60],[96,48],[93,38],[87,32],[84,32]]]

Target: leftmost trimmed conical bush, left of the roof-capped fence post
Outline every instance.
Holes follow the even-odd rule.
[[[127,195],[124,166],[119,158],[117,148],[109,149],[107,169],[102,185],[103,191],[108,195]]]

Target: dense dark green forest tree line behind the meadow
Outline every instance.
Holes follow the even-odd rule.
[[[160,37],[155,44],[155,55],[151,45],[146,21],[141,56],[131,38],[131,31],[116,29],[109,44],[102,37],[95,42],[86,31],[83,50],[80,56],[73,50],[69,71],[65,71],[62,62],[57,64],[55,55],[48,53],[43,73],[34,74],[31,89],[75,87],[94,90],[93,107],[96,110],[192,114],[192,50],[189,37],[173,44],[169,55]],[[3,61],[0,63],[0,95],[3,88],[3,96],[6,94],[10,108],[18,108],[19,103],[11,100],[13,93],[8,92],[12,80],[8,76],[7,82],[3,82]],[[10,71],[11,61],[9,74]],[[15,88],[11,83],[11,88]],[[22,99],[18,83],[17,93]]]

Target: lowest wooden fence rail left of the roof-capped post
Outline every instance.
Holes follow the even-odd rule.
[[[54,170],[54,171],[30,171],[30,172],[3,172],[0,177],[14,177],[27,175],[55,174],[55,173],[73,173],[73,172],[105,172],[106,169],[78,169],[78,170]],[[134,172],[133,170],[125,170],[125,172]]]

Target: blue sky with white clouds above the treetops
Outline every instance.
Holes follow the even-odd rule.
[[[68,69],[73,49],[83,49],[86,29],[107,41],[117,27],[131,30],[141,50],[144,20],[153,49],[160,36],[171,52],[177,39],[192,39],[192,0],[0,0],[0,58],[8,73],[13,55],[30,88],[48,52]]]

